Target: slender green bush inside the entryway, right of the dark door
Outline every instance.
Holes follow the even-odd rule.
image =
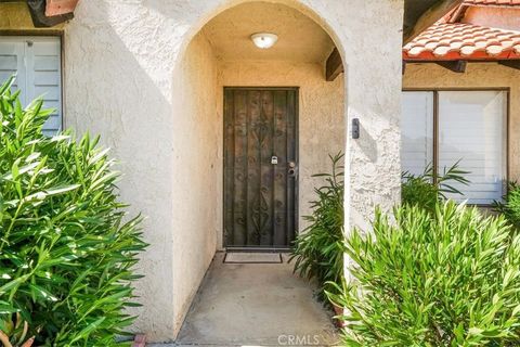
[[[296,239],[289,261],[296,259],[295,272],[316,279],[322,291],[327,281],[341,283],[343,278],[343,171],[342,154],[329,156],[330,174],[314,175],[325,178],[325,185],[315,189],[316,201],[311,203],[313,213],[307,216],[310,222]]]

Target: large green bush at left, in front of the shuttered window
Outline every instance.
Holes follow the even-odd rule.
[[[28,322],[38,346],[115,346],[133,318],[131,268],[145,244],[123,221],[99,139],[41,132],[50,111],[0,88],[0,330]]]

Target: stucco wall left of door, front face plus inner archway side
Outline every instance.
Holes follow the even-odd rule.
[[[190,27],[179,7],[82,1],[65,38],[67,126],[114,149],[121,196],[147,217],[143,307],[131,313],[151,340],[174,339],[216,250],[217,127],[204,119],[216,102],[200,108],[211,104],[198,100],[211,94],[197,88],[205,76],[191,74],[204,70],[200,56],[179,63]]]

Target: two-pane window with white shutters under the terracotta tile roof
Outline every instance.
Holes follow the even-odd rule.
[[[454,184],[469,204],[499,201],[507,177],[507,91],[405,91],[401,119],[404,171],[428,164],[439,172],[460,160],[469,185]]]

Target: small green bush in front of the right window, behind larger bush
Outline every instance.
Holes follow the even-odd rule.
[[[468,184],[464,177],[468,171],[458,168],[459,162],[450,168],[444,168],[442,175],[433,172],[433,167],[428,165],[421,175],[415,176],[410,172],[402,174],[403,183],[401,194],[403,204],[417,205],[429,211],[434,211],[439,202],[446,200],[446,194],[460,194],[453,182]]]

